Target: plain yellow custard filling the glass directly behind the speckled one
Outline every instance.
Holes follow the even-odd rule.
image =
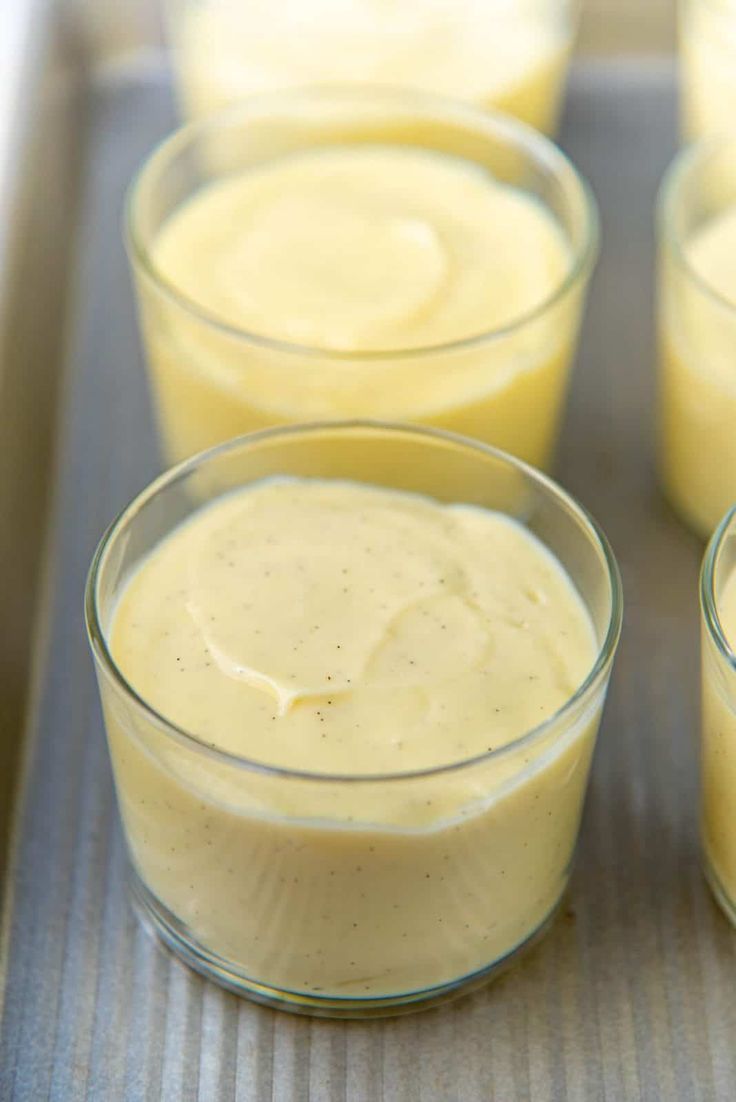
[[[573,263],[560,226],[479,166],[307,150],[204,186],[151,256],[192,307],[145,282],[171,461],[277,423],[371,417],[549,464],[582,289],[550,301]]]

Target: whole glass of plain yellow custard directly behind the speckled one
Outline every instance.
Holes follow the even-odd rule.
[[[551,463],[597,216],[521,123],[401,91],[258,97],[159,147],[127,237],[166,462],[388,418]]]

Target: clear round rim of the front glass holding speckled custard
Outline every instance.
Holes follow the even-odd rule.
[[[593,544],[597,545],[602,553],[603,569],[607,574],[610,587],[608,624],[606,631],[604,633],[603,641],[598,644],[596,658],[576,690],[564,701],[563,704],[560,705],[559,709],[543,720],[542,723],[530,727],[528,731],[524,731],[523,734],[513,738],[504,746],[497,747],[496,749],[485,750],[480,754],[475,754],[472,757],[459,758],[457,760],[444,763],[437,766],[380,774],[317,773],[309,769],[293,769],[285,766],[277,766],[266,761],[259,761],[258,759],[249,758],[240,754],[234,754],[217,746],[213,746],[201,736],[193,734],[185,727],[174,723],[162,712],[159,712],[152,704],[150,704],[145,698],[142,696],[130,683],[112,657],[107,641],[107,630],[102,627],[98,603],[99,579],[106,564],[108,553],[115,547],[117,540],[125,533],[129,523],[134,520],[140,510],[150,500],[158,495],[165,493],[172,486],[176,485],[193,472],[197,471],[205,464],[208,464],[213,460],[218,460],[221,456],[227,455],[229,452],[236,452],[243,447],[258,446],[264,441],[279,439],[285,440],[294,436],[305,437],[312,434],[323,434],[325,432],[360,433],[366,431],[377,432],[379,434],[383,433],[408,436],[413,440],[425,440],[429,443],[434,441],[436,443],[453,444],[461,447],[465,452],[475,452],[481,456],[498,460],[507,467],[512,468],[530,479],[548,497],[555,500],[558,505],[581,521],[588,540]],[[312,782],[358,785],[412,780],[422,777],[429,778],[456,773],[461,769],[490,761],[491,759],[508,756],[509,754],[518,750],[520,747],[529,746],[538,742],[554,726],[564,721],[564,719],[575,711],[578,705],[587,702],[587,700],[594,695],[596,690],[599,688],[600,683],[607,678],[616,653],[616,648],[618,646],[624,612],[620,573],[608,539],[587,509],[580,505],[572,497],[572,495],[559,486],[558,483],[549,478],[545,474],[542,474],[542,472],[531,467],[522,460],[518,460],[516,456],[509,455],[507,452],[493,447],[489,444],[484,444],[479,441],[462,436],[458,433],[446,432],[441,429],[409,425],[400,422],[372,420],[316,421],[306,424],[279,425],[272,429],[263,429],[259,432],[236,436],[232,440],[228,440],[215,447],[207,449],[188,460],[184,460],[182,463],[176,464],[176,466],[171,467],[169,471],[165,471],[163,474],[159,475],[158,478],[154,478],[153,482],[149,483],[144,489],[137,494],[136,497],[120,510],[102,534],[87,574],[84,603],[87,637],[89,639],[89,645],[97,667],[105,672],[106,677],[112,680],[113,684],[122,691],[125,696],[138,711],[143,713],[149,722],[151,722],[160,731],[163,731],[164,734],[173,737],[174,741],[188,747],[190,749],[203,753],[205,756],[214,758],[215,760],[238,769],[246,769],[250,773]]]

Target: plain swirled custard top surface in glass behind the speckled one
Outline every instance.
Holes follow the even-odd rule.
[[[410,147],[310,150],[207,184],[153,245],[219,321],[331,350],[424,347],[523,317],[571,252],[527,193]]]

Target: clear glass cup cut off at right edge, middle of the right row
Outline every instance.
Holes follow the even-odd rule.
[[[736,279],[712,285],[690,249],[736,210],[736,137],[683,150],[659,198],[659,466],[684,520],[708,537],[736,500]]]

